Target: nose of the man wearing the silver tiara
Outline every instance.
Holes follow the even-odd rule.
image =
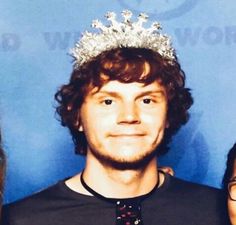
[[[118,124],[139,124],[139,109],[135,104],[123,104],[120,108],[117,123]]]

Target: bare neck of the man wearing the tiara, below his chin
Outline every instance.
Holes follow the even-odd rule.
[[[108,198],[132,198],[147,194],[155,187],[158,179],[160,184],[164,179],[158,176],[155,157],[145,167],[135,170],[118,170],[96,160],[92,163],[87,160],[83,178],[89,187]],[[80,183],[80,174],[66,184],[74,191],[90,195]]]

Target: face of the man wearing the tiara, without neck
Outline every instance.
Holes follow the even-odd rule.
[[[158,82],[109,81],[86,96],[80,110],[80,131],[88,156],[104,162],[137,164],[161,142],[166,127],[167,97]]]

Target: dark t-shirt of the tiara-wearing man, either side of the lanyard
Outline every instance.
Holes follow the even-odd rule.
[[[225,225],[221,192],[165,175],[143,200],[144,225]],[[69,189],[64,181],[3,209],[3,225],[115,225],[115,205]]]

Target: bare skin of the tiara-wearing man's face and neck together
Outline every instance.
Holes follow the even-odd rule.
[[[85,182],[113,198],[146,194],[158,179],[161,185],[164,176],[157,172],[153,153],[168,126],[166,115],[166,92],[158,82],[144,86],[109,81],[100,90],[91,90],[80,110],[79,131],[88,141]],[[67,180],[67,186],[89,194],[79,177]]]

